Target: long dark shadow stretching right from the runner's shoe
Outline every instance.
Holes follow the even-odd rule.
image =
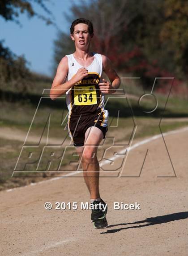
[[[110,234],[110,233],[116,233],[124,229],[137,229],[137,228],[143,228],[143,227],[148,227],[152,225],[157,225],[157,224],[162,224],[162,223],[167,223],[170,221],[175,221],[175,220],[184,220],[188,218],[188,211],[182,211],[182,212],[177,212],[177,213],[171,213],[168,215],[163,215],[163,216],[157,216],[153,218],[147,218],[145,220],[140,220],[140,221],[135,221],[135,222],[130,222],[130,223],[120,223],[120,224],[115,224],[115,225],[109,225],[108,228],[116,227],[116,226],[124,226],[124,225],[134,225],[134,224],[141,224],[145,223],[144,225],[137,225],[137,226],[131,226],[131,227],[125,227],[125,228],[119,228],[119,229],[109,229],[106,232],[102,232],[101,234]]]

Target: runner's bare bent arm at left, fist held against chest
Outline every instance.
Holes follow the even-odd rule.
[[[57,99],[60,95],[65,94],[70,88],[72,88],[78,81],[83,79],[88,75],[85,67],[78,69],[75,76],[73,76],[69,81],[65,82],[68,75],[68,58],[65,56],[61,59],[58,67],[56,76],[54,77],[53,83],[50,90],[50,98],[52,100]]]

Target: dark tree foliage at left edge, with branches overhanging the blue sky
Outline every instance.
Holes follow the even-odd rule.
[[[0,0],[0,16],[7,21],[19,22],[21,13],[27,13],[29,18],[34,16],[42,19],[47,25],[55,23],[51,20],[52,13],[44,4],[43,0],[33,0],[39,4],[49,17],[36,13],[30,0]],[[52,17],[53,18],[53,17]],[[0,84],[3,90],[15,91],[25,94],[34,81],[34,75],[26,67],[27,61],[24,56],[17,56],[11,49],[5,47],[0,41]]]

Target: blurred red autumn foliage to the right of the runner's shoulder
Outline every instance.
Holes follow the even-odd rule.
[[[94,37],[93,47],[96,52],[103,53],[107,42],[100,40],[97,36]],[[110,44],[107,56],[114,63],[115,67],[125,73],[132,73],[133,76],[140,76],[145,87],[150,87],[156,77],[164,78],[158,80],[157,92],[167,94],[169,92],[169,78],[174,78],[173,94],[188,93],[188,88],[183,85],[183,81],[176,79],[173,74],[163,69],[158,65],[158,60],[154,59],[151,62],[145,57],[141,50],[135,45],[132,50],[125,51],[118,46],[117,38],[111,38],[108,41]],[[166,78],[166,79],[165,79]]]

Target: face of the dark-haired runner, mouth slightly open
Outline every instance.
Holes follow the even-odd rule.
[[[88,25],[79,23],[74,27],[73,35],[71,35],[73,41],[75,41],[75,45],[78,48],[85,48],[90,44],[90,40],[92,35],[90,35],[88,31]]]

